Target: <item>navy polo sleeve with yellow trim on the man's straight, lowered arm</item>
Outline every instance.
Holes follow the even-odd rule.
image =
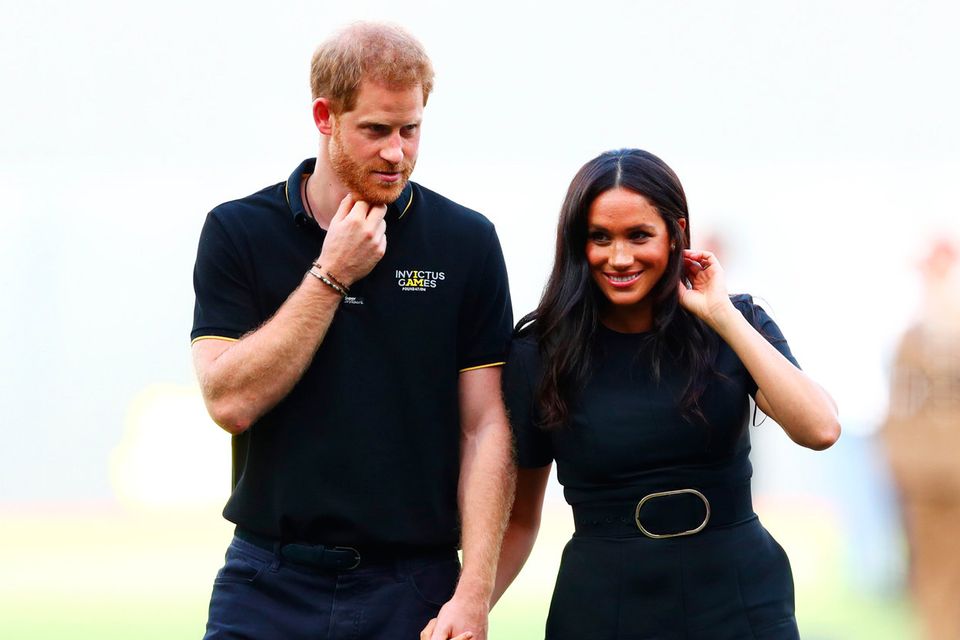
[[[490,226],[485,249],[468,276],[457,331],[460,372],[500,366],[506,361],[513,330],[507,268],[496,230]]]

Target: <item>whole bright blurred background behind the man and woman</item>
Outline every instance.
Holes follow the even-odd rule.
[[[356,19],[397,22],[431,54],[414,178],[497,224],[517,317],[580,165],[631,146],[674,168],[694,244],[840,406],[823,453],[751,427],[757,509],[793,563],[803,637],[922,637],[922,543],[897,487],[926,458],[891,473],[883,442],[919,452],[935,391],[947,460],[931,482],[960,484],[938,480],[960,430],[960,358],[944,357],[960,326],[944,320],[960,293],[960,5],[2,4],[0,637],[202,635],[232,529],[229,436],[190,362],[196,242],[209,209],[316,154],[310,55]],[[918,357],[938,355],[936,374],[900,346],[931,317],[948,337]],[[894,414],[900,436],[882,438]],[[918,508],[927,529],[957,493]],[[542,637],[571,531],[554,482],[491,638]],[[951,580],[930,593],[956,613]]]

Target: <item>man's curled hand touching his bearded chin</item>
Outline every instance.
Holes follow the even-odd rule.
[[[386,205],[371,207],[353,194],[340,201],[317,262],[347,286],[364,277],[387,251]]]

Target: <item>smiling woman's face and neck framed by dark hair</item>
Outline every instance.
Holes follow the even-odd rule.
[[[686,221],[681,219],[683,227]],[[600,194],[587,215],[587,263],[609,304],[601,319],[611,329],[648,331],[650,291],[670,261],[671,238],[660,213],[638,193],[617,188]]]

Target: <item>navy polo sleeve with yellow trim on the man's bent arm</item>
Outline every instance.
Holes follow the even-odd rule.
[[[193,269],[196,303],[190,338],[236,340],[260,324],[247,271],[216,211],[207,215]]]

